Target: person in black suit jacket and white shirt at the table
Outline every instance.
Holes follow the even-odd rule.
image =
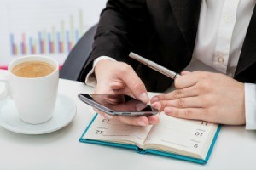
[[[98,94],[131,94],[148,102],[146,87],[164,91],[172,80],[129,59],[130,51],[176,72],[193,57],[221,73],[182,72],[177,90],[151,104],[170,116],[256,129],[254,5],[255,0],[108,0],[81,80]],[[159,122],[157,116],[101,114],[138,126]]]

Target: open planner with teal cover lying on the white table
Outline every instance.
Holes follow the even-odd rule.
[[[217,124],[179,119],[163,112],[159,118],[157,125],[137,127],[96,114],[79,141],[207,163],[218,137]]]

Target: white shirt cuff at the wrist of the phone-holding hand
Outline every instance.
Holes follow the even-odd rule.
[[[110,60],[113,60],[115,61],[115,59],[112,59],[111,57],[108,57],[108,56],[101,56],[101,57],[98,57],[97,59],[95,59],[93,61],[93,65],[92,65],[92,69],[89,71],[89,73],[86,75],[86,78],[85,78],[85,84],[88,85],[88,86],[92,86],[92,87],[96,87],[96,77],[95,77],[95,73],[94,73],[94,68],[95,68],[95,65],[102,59],[110,59]]]

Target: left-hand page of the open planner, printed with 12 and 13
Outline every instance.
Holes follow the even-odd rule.
[[[142,148],[151,127],[152,126],[137,127],[126,125],[98,115],[83,138],[122,144],[137,144],[137,146]]]

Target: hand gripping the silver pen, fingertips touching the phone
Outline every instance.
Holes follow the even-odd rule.
[[[183,72],[177,90],[154,96],[152,106],[167,115],[216,122],[245,124],[244,84],[218,73]]]

